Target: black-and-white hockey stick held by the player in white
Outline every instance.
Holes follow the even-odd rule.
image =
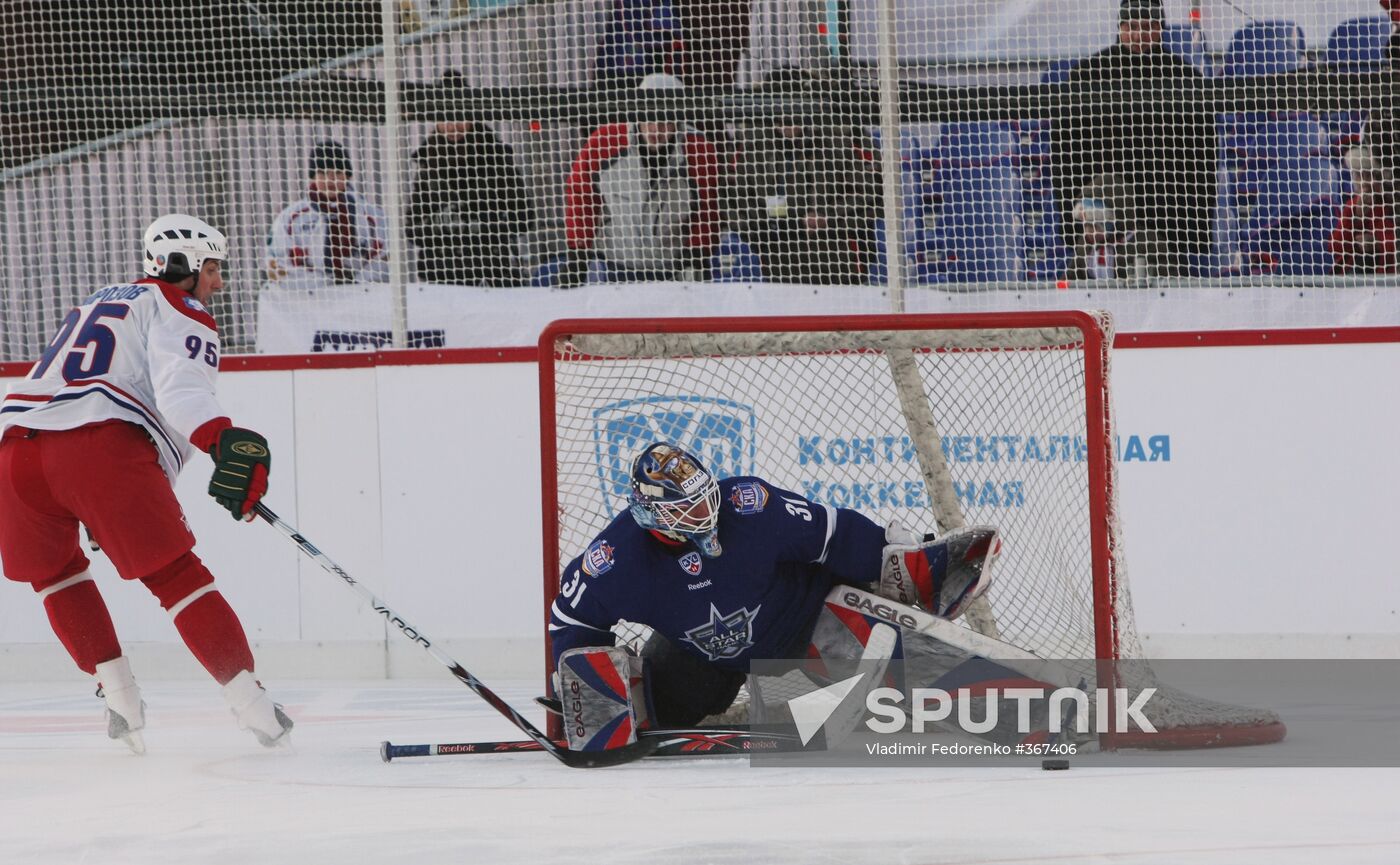
[[[276,514],[273,514],[272,509],[267,508],[267,505],[258,502],[256,505],[253,505],[253,512],[266,519],[274,529],[277,529],[288,539],[291,539],[293,543],[301,547],[302,553],[315,558],[316,564],[319,564],[328,572],[339,577],[342,582],[354,589],[361,598],[368,600],[370,607],[375,613],[384,616],[385,621],[399,628],[403,633],[403,635],[407,637],[412,642],[417,642],[419,645],[421,645],[428,655],[433,655],[434,661],[445,666],[454,676],[456,676],[458,682],[472,689],[472,691],[475,691],[476,696],[480,697],[482,700],[490,703],[491,708],[510,718],[511,724],[521,728],[521,731],[524,731],[526,736],[529,736],[535,743],[538,743],[542,750],[549,752],[550,756],[553,756],[564,766],[573,766],[575,768],[616,766],[619,763],[630,763],[640,757],[645,757],[647,754],[650,754],[652,750],[657,749],[657,742],[654,739],[637,739],[637,742],[631,745],[627,745],[624,747],[616,747],[612,750],[601,750],[601,752],[568,750],[559,742],[554,742],[545,733],[535,729],[533,724],[526,721],[524,715],[511,708],[511,705],[504,700],[501,700],[496,694],[496,691],[482,684],[482,680],[469,673],[466,668],[463,668],[452,658],[447,656],[441,649],[434,648],[433,641],[428,640],[427,635],[423,634],[423,631],[413,627],[412,624],[409,624],[406,619],[403,619],[403,616],[389,609],[389,605],[375,598],[374,592],[356,582],[356,579],[350,577],[350,574],[347,574],[344,568],[342,568],[335,561],[330,561],[329,556],[318,550],[309,540],[302,537],[297,529],[283,522],[283,519]]]

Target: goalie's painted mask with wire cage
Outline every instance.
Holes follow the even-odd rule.
[[[696,544],[703,556],[720,554],[720,483],[690,452],[658,441],[631,463],[631,518],[644,529]]]

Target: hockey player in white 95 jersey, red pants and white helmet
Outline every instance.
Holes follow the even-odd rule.
[[[0,560],[98,680],[111,738],[143,753],[146,707],[78,546],[80,521],[123,579],[160,599],[239,726],[277,745],[291,719],[253,676],[248,637],[172,490],[196,449],[214,460],[210,495],[237,519],[252,519],[267,490],[267,441],[232,426],[214,396],[220,343],[206,304],[224,286],[228,241],[168,214],[146,230],[144,258],[144,279],[74,307],[0,402]]]

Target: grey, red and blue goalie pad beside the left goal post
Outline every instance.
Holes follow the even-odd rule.
[[[559,698],[570,750],[631,745],[647,722],[641,658],[623,647],[568,649],[559,658]]]

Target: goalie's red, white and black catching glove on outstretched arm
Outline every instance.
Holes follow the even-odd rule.
[[[991,585],[1001,536],[990,526],[953,529],[923,540],[899,523],[885,529],[879,593],[941,619],[956,619]]]

